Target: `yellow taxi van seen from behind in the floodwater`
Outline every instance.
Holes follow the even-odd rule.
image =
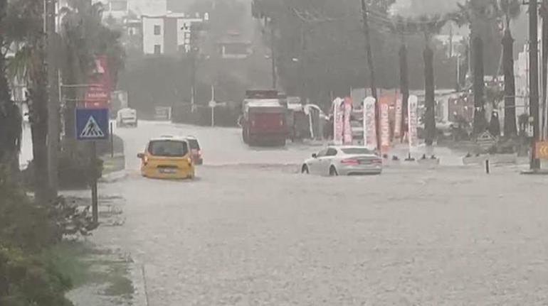
[[[194,162],[189,142],[177,136],[152,138],[141,159],[141,174],[144,177],[163,179],[194,179]]]

